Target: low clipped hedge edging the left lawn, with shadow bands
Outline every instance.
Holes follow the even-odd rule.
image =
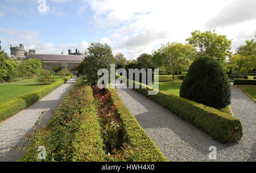
[[[51,85],[40,88],[39,90],[30,92],[26,95],[22,95],[19,98],[10,100],[9,102],[0,104],[0,122],[13,116],[15,113],[30,106],[31,104],[35,103],[39,99],[49,94],[49,92],[63,85],[63,83],[67,82],[71,78],[72,75],[65,77],[64,79],[61,79],[58,82],[52,83]]]

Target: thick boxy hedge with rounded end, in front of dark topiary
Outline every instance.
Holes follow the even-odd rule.
[[[129,81],[129,79],[127,79]],[[128,83],[128,82],[127,82]],[[135,84],[135,81],[133,82]],[[138,83],[138,82],[137,82]],[[164,108],[181,117],[193,125],[207,132],[214,139],[220,142],[235,142],[243,136],[241,121],[217,109],[204,106],[192,100],[180,98],[171,94],[164,94],[159,91],[156,95],[148,95],[148,90],[153,90],[147,85],[138,83],[140,88],[136,89],[148,98],[155,100]],[[141,86],[146,86],[146,89]]]

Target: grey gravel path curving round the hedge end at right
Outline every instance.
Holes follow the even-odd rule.
[[[256,161],[256,105],[232,86],[232,112],[241,120],[242,140],[221,144],[207,133],[173,115],[160,104],[133,89],[116,89],[123,103],[155,141],[169,161],[213,161],[209,146],[216,146],[216,161]]]

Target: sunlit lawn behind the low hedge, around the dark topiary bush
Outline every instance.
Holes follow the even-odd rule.
[[[159,83],[159,90],[166,92],[167,94],[172,94],[176,96],[180,96],[180,86],[182,82],[160,82]],[[255,96],[255,95],[254,95]],[[232,115],[230,107],[227,106],[221,109],[222,112],[228,113]]]

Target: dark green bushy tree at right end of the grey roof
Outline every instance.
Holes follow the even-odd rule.
[[[106,43],[91,43],[86,50],[84,61],[78,67],[78,74],[85,75],[86,79],[95,85],[100,77],[99,69],[110,69],[113,63],[112,49]]]

